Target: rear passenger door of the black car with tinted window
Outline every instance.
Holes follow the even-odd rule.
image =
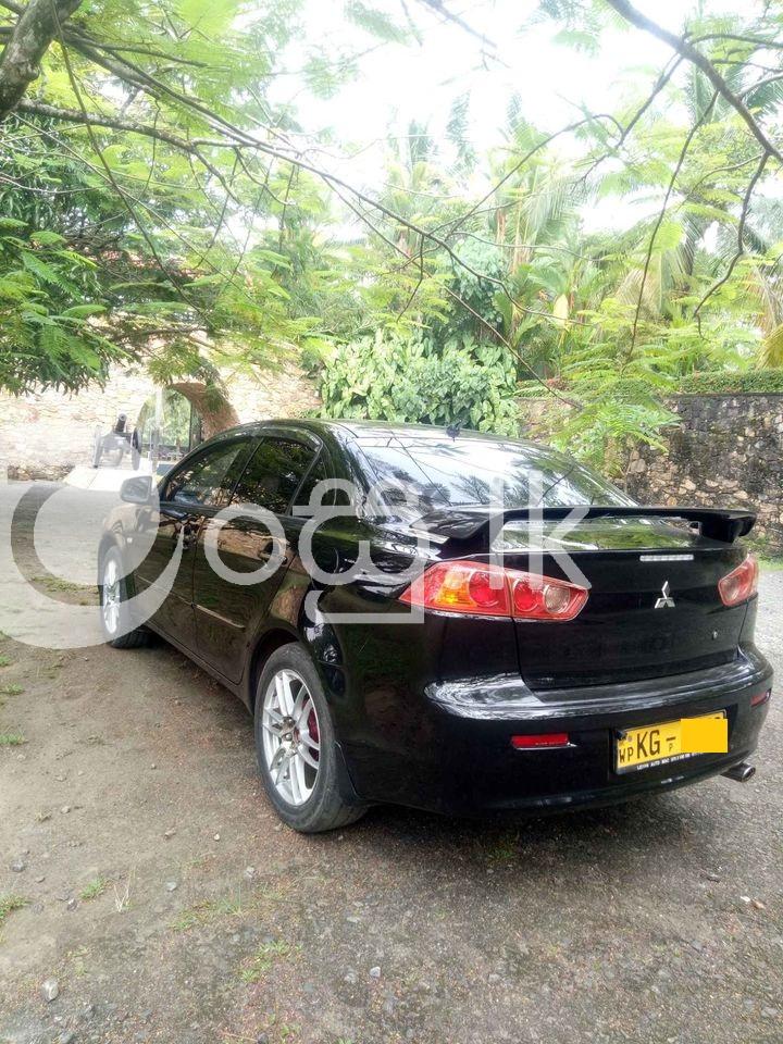
[[[264,435],[234,489],[231,518],[208,519],[199,535],[194,573],[198,650],[233,682],[241,678],[256,624],[296,555],[303,520],[291,518],[288,509],[315,474],[320,452],[320,439],[309,433]],[[257,508],[271,512],[277,525],[256,517]],[[209,561],[208,540],[217,552],[219,571]],[[262,568],[266,575],[259,577]]]

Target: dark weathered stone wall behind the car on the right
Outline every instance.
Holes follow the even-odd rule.
[[[549,399],[522,399],[525,437],[557,428],[567,410]],[[748,507],[754,535],[783,551],[783,395],[676,395],[667,400],[680,423],[664,428],[666,450],[631,456],[626,488],[647,504]]]

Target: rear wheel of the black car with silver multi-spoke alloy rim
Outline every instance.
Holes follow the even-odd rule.
[[[337,830],[366,811],[340,796],[332,716],[318,672],[301,645],[277,649],[261,672],[256,691],[256,753],[266,796],[294,830],[303,834]]]

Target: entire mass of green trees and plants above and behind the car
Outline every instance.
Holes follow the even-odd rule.
[[[78,389],[137,358],[161,384],[215,384],[299,350],[327,415],[512,434],[517,397],[549,388],[571,406],[557,440],[619,472],[634,443],[660,444],[673,389],[778,380],[763,377],[783,366],[769,4],[719,18],[700,4],[668,41],[676,70],[635,71],[616,111],[568,135],[512,97],[481,156],[462,94],[443,141],[412,120],[360,190],[319,165],[339,142],[276,101],[291,51],[302,107],[358,69],[310,46],[303,0],[52,2],[75,13],[0,140],[0,388]],[[409,11],[340,10],[372,48],[417,38]],[[596,52],[629,10],[542,0],[536,16]],[[623,222],[588,223],[612,208]]]

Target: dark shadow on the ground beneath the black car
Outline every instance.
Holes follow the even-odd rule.
[[[252,720],[236,696],[158,636],[145,651],[171,657],[173,664],[198,675],[202,684],[194,686],[190,700],[199,700],[213,726],[246,733],[252,755]],[[245,736],[239,739],[245,743]],[[324,857],[337,842],[347,843],[355,850],[374,852],[394,861],[400,871],[424,861],[438,867],[458,863],[471,875],[523,868],[527,880],[537,870],[551,872],[556,865],[574,871],[600,866],[602,873],[625,874],[636,865],[655,863],[678,849],[692,858],[699,846],[709,846],[725,829],[722,817],[731,815],[724,801],[716,801],[708,793],[720,785],[705,781],[621,805],[545,816],[494,812],[461,818],[376,805],[357,823],[331,833],[298,835],[298,842],[303,849],[323,849]],[[264,800],[261,796],[260,801]]]

